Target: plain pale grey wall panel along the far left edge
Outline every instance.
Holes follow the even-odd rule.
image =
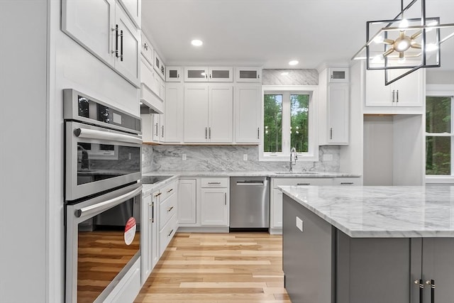
[[[45,302],[47,0],[0,1],[0,302]]]

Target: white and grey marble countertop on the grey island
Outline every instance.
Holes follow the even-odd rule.
[[[454,187],[280,187],[353,238],[454,237]]]

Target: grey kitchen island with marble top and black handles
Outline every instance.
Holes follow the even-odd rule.
[[[454,302],[454,187],[281,187],[292,302]]]

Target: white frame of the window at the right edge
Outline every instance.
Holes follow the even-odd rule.
[[[451,98],[451,132],[450,135],[445,133],[438,133],[438,137],[450,136],[451,138],[451,174],[450,175],[426,175],[426,153],[424,153],[424,175],[426,177],[426,183],[454,183],[454,84],[432,84],[427,85],[426,98],[424,99],[424,116],[426,116],[426,99],[427,97],[450,97]],[[437,133],[426,132],[426,119],[424,119],[424,145],[428,136],[437,136]],[[424,148],[426,150],[426,148]]]

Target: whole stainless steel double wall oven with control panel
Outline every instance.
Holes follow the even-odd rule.
[[[140,257],[141,122],[63,94],[66,302],[102,302]]]

